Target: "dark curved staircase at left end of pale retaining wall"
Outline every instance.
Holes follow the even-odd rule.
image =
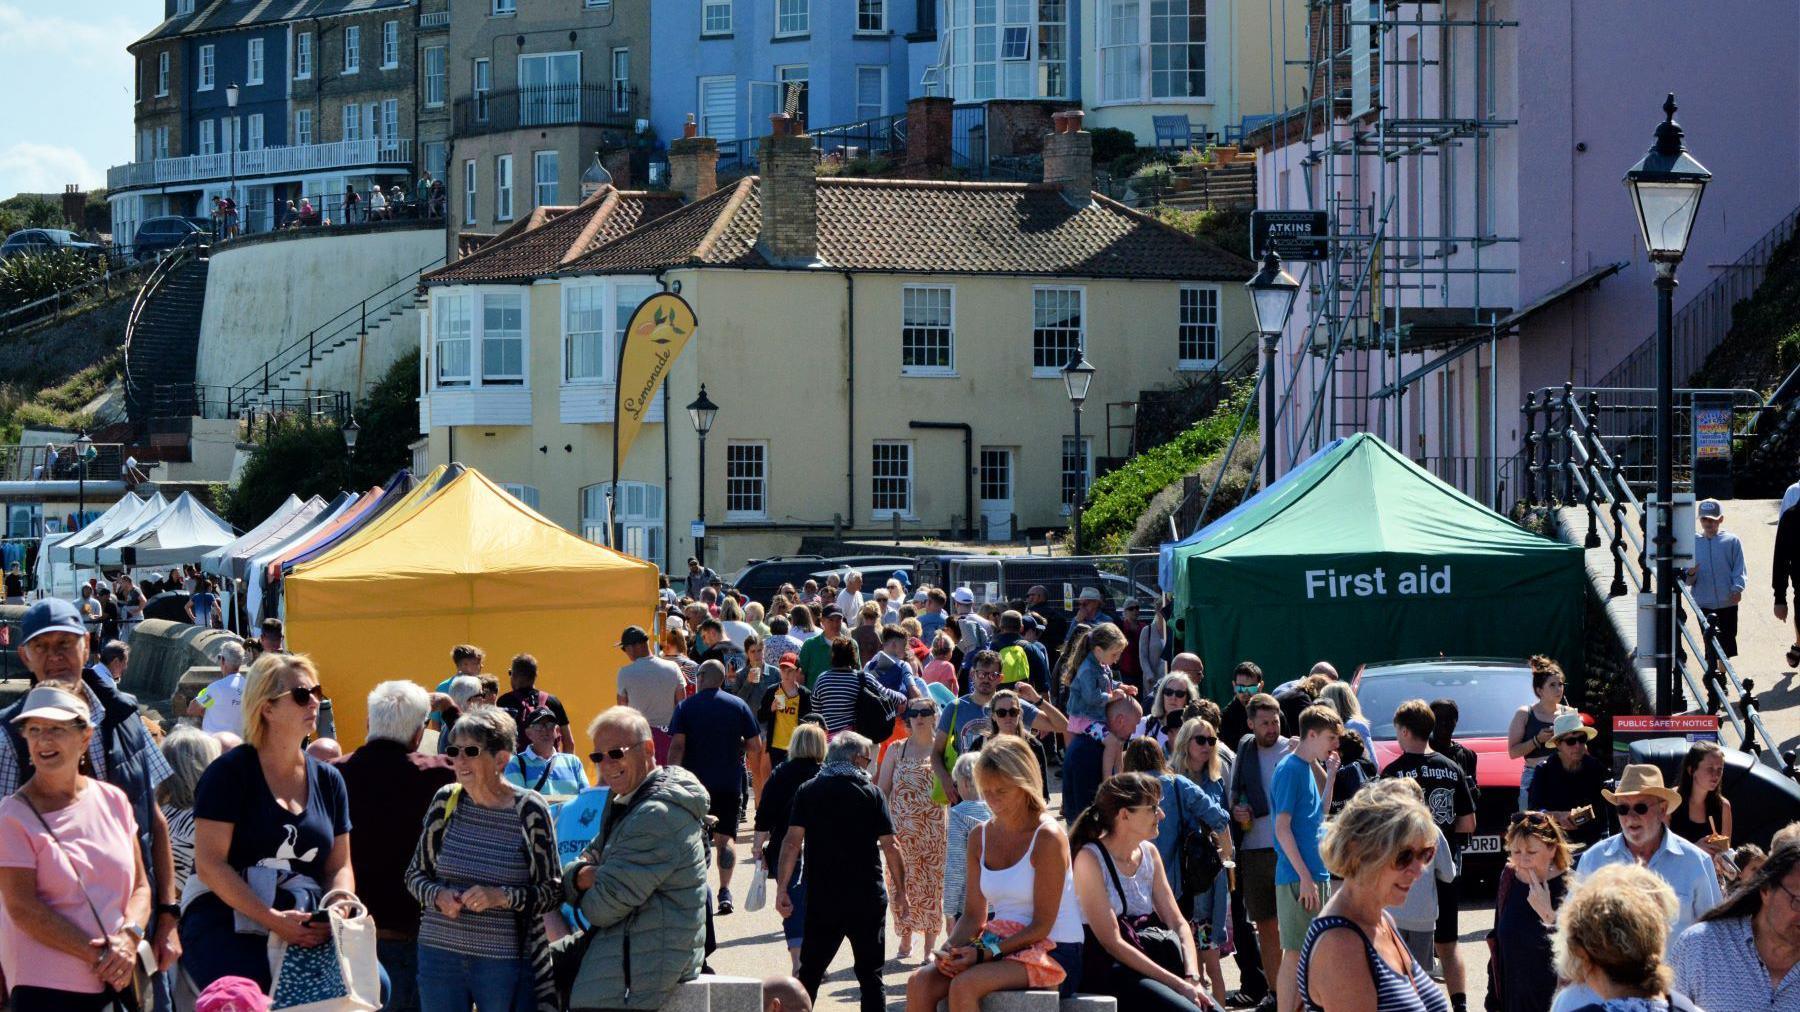
[[[157,391],[194,382],[200,315],[207,297],[207,248],[180,250],[137,295],[126,322],[126,416],[144,425],[155,414]]]

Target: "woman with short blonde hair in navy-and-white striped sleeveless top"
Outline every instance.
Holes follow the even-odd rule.
[[[1438,825],[1409,778],[1377,780],[1328,823],[1319,848],[1332,890],[1300,951],[1300,1001],[1312,1012],[1449,1012],[1388,913],[1438,857]]]

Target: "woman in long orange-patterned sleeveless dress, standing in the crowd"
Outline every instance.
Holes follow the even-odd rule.
[[[934,776],[931,773],[931,740],[938,726],[938,704],[929,695],[909,699],[900,709],[907,736],[895,742],[882,756],[878,785],[887,798],[895,821],[895,841],[907,868],[943,868],[947,846],[943,807],[931,800]],[[931,956],[938,947],[938,929],[943,927],[943,877],[934,873],[907,875],[905,915],[895,915],[895,933],[900,935],[898,958],[913,956],[913,933],[925,938],[920,949]]]

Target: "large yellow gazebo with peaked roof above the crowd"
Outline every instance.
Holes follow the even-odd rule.
[[[657,567],[571,535],[466,470],[295,567],[284,600],[288,646],[319,664],[346,751],[367,736],[371,688],[434,688],[457,643],[486,650],[500,691],[515,654],[536,657],[538,688],[562,699],[580,736],[616,702],[619,632],[650,628]]]

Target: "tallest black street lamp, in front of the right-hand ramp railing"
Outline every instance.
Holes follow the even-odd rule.
[[[1676,267],[1687,254],[1699,214],[1699,198],[1712,173],[1687,153],[1676,122],[1676,95],[1663,103],[1656,142],[1625,173],[1631,202],[1643,230],[1643,248],[1656,268],[1656,713],[1674,713],[1681,688],[1674,673],[1674,349],[1670,319],[1676,301]]]

